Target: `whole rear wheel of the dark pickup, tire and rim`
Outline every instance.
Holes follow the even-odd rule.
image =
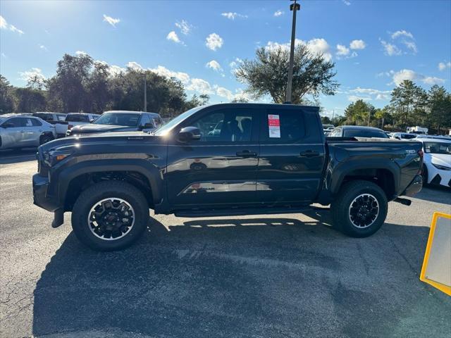
[[[350,237],[374,234],[385,222],[387,211],[385,192],[377,184],[365,180],[345,183],[330,205],[333,227]]]

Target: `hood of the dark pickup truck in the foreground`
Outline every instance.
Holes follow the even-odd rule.
[[[66,151],[96,144],[102,144],[104,146],[123,146],[132,145],[133,143],[146,143],[162,144],[163,138],[149,134],[148,132],[104,132],[99,134],[80,134],[70,137],[64,137],[62,139],[54,139],[51,142],[47,142],[42,146],[39,146],[39,151]]]

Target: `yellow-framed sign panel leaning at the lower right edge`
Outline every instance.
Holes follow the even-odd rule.
[[[420,280],[451,296],[451,215],[432,216]]]

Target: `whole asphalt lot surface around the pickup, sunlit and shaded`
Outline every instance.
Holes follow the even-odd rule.
[[[391,202],[354,239],[328,208],[224,218],[156,215],[98,253],[32,204],[35,149],[0,154],[0,337],[450,337],[451,297],[419,280],[433,211]],[[30,161],[33,160],[33,161]]]

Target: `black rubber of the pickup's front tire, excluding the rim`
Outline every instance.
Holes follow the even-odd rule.
[[[135,196],[135,194],[126,192],[124,191],[124,189],[116,189],[114,185],[111,187],[112,189],[101,189],[101,187],[99,186],[99,189],[96,189],[97,191],[92,192],[91,196],[80,195],[79,199],[82,198],[82,201],[80,201],[80,203],[78,203],[77,201],[73,209],[72,225],[75,235],[80,239],[81,242],[87,244],[87,246],[94,250],[111,251],[123,249],[127,246],[130,246],[138,237],[140,237],[140,234],[142,234],[142,232],[145,230],[147,221],[149,220],[149,208],[147,207],[147,205],[143,205],[142,196]],[[132,206],[133,210],[135,211],[135,223],[133,224],[130,232],[128,232],[128,234],[125,234],[125,236],[121,239],[107,241],[96,237],[91,232],[91,230],[89,230],[89,223],[87,222],[87,218],[89,212],[91,211],[91,208],[95,204],[97,204],[102,199],[109,198],[123,199],[128,204],[130,204],[130,206]]]

